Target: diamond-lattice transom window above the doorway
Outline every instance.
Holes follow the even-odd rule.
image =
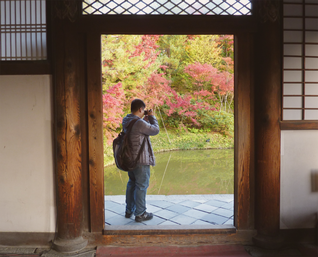
[[[251,15],[251,0],[84,0],[83,14]]]

